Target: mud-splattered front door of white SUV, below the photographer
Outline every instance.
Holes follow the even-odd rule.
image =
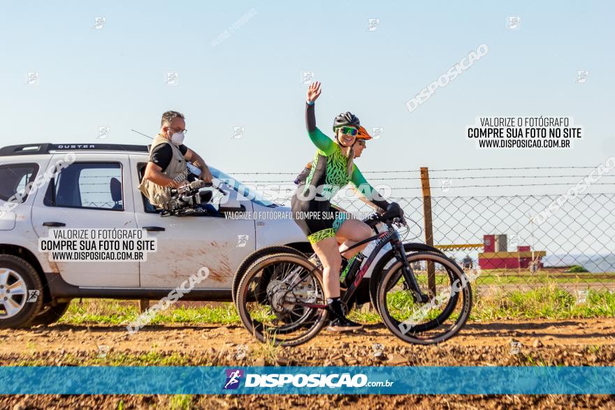
[[[146,161],[147,157],[131,156],[133,186],[140,183]],[[230,191],[229,195],[234,198],[237,193]],[[147,261],[140,263],[142,288],[176,288],[203,267],[210,275],[196,288],[231,288],[238,265],[255,249],[254,219],[224,215],[161,217],[140,191],[134,189],[133,198],[137,225],[158,242],[157,252],[147,254]],[[216,208],[217,201],[212,203]],[[249,200],[241,203],[246,213],[252,212]]]

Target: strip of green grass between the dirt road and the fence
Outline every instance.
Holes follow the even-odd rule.
[[[391,300],[389,307],[396,309],[396,316],[407,316],[412,309],[410,300],[405,303],[402,295]],[[398,316],[400,315],[400,316]],[[71,303],[68,312],[59,323],[70,325],[108,324],[129,325],[138,316],[138,305],[133,301],[77,300]],[[354,310],[351,319],[362,323],[378,323],[374,310]],[[585,302],[577,301],[577,295],[551,282],[549,286],[530,291],[502,291],[495,288],[489,293],[475,293],[470,320],[493,321],[498,319],[583,319],[615,317],[615,293],[611,291],[588,291]],[[154,316],[151,325],[181,323],[240,324],[234,305],[230,302],[205,307],[171,307]]]

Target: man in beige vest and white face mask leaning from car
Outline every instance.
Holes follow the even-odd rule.
[[[187,184],[187,161],[201,169],[201,179],[212,181],[212,174],[205,161],[185,145],[186,122],[184,115],[167,111],[162,115],[160,133],[150,149],[150,161],[145,167],[139,190],[155,207],[163,207],[171,198],[171,189]]]

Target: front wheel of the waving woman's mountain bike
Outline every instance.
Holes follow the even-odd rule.
[[[382,321],[394,335],[414,344],[436,344],[461,330],[472,309],[469,279],[456,264],[443,255],[417,252],[407,255],[421,292],[430,295],[426,303],[415,302],[405,284],[402,263],[397,262],[382,274],[377,302]],[[429,289],[433,266],[435,293]]]

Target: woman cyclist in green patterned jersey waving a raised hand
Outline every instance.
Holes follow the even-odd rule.
[[[372,230],[362,221],[349,219],[344,212],[337,212],[331,207],[331,198],[348,182],[352,182],[361,196],[373,207],[386,210],[390,204],[379,197],[377,191],[368,184],[359,168],[354,165],[353,145],[361,126],[359,118],[351,112],[335,117],[335,140],[331,140],[317,128],[314,101],[320,94],[319,82],[312,83],[307,89],[305,124],[307,135],[316,145],[317,152],[305,184],[298,187],[292,198],[291,208],[294,221],[307,235],[322,263],[324,293],[331,315],[328,330],[342,332],[360,329],[362,325],[346,318],[340,300],[342,255],[338,240],[343,242],[342,249],[347,249],[370,237]],[[366,246],[367,244],[364,244],[346,251],[343,256],[352,258]]]

